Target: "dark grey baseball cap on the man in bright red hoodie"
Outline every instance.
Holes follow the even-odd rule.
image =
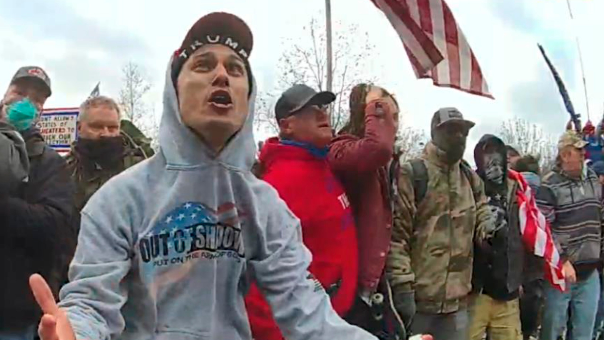
[[[336,99],[336,95],[329,91],[316,92],[313,88],[297,84],[288,88],[275,104],[275,118],[287,118],[302,108],[310,105],[327,105]]]

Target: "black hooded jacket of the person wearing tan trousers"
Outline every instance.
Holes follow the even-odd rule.
[[[496,152],[503,157],[503,185],[496,185],[486,178],[483,160],[487,145],[494,146]],[[500,223],[505,221],[504,227],[498,229],[488,243],[475,247],[472,286],[475,292],[482,292],[500,301],[509,301],[518,297],[525,256],[515,195],[516,183],[507,178],[506,159],[505,144],[490,134],[484,135],[474,149],[477,173],[484,181],[489,205],[495,204],[493,202],[497,197],[503,197],[506,209],[504,216],[499,217]]]

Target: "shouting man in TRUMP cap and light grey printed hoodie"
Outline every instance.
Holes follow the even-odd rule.
[[[252,45],[242,19],[210,13],[170,53],[160,151],[82,209],[60,307],[30,278],[42,340],[249,340],[252,280],[288,339],[374,339],[334,312],[300,221],[251,172]]]

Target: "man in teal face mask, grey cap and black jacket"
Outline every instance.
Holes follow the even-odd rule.
[[[65,160],[34,122],[50,96],[39,67],[14,75],[0,108],[0,339],[33,339],[41,311],[28,278],[43,273],[57,291],[69,232],[73,186]]]

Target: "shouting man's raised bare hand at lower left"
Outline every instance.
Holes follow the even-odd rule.
[[[30,276],[30,287],[44,315],[38,325],[42,340],[76,340],[67,313],[55,302],[53,292],[39,274]]]

